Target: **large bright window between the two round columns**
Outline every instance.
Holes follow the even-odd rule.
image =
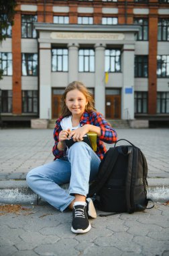
[[[95,72],[95,51],[93,49],[78,50],[78,71]]]

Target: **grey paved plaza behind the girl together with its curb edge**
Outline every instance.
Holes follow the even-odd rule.
[[[169,199],[169,129],[116,129],[144,152],[148,161],[148,195],[155,201]],[[121,145],[125,141],[119,141]],[[36,203],[37,195],[27,187],[29,170],[51,162],[52,129],[0,130],[0,202]],[[112,144],[106,144],[107,149]]]

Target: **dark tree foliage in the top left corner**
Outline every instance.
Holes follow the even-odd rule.
[[[9,26],[13,26],[16,5],[16,0],[0,0],[0,43],[7,38]],[[1,69],[0,59],[0,80],[2,75],[3,69]]]

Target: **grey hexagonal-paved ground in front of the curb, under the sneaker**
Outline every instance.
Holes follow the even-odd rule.
[[[25,210],[27,209],[27,210]],[[169,206],[91,219],[87,234],[70,231],[72,212],[50,205],[25,206],[0,220],[0,255],[169,255]]]

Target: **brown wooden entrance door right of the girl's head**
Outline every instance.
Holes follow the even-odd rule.
[[[119,89],[106,89],[105,116],[107,119],[121,119],[121,94]]]

